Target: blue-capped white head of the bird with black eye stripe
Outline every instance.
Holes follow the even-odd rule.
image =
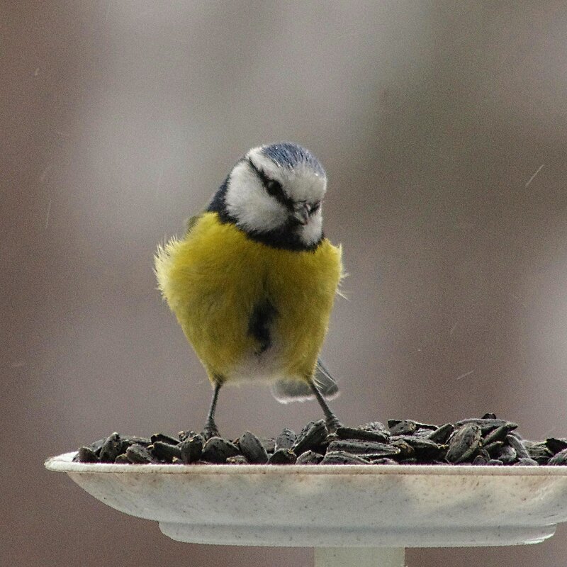
[[[305,148],[288,142],[254,147],[222,189],[226,215],[249,235],[300,248],[320,242],[327,176]]]

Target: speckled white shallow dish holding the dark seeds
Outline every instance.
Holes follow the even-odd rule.
[[[567,467],[114,465],[49,459],[103,503],[200,544],[529,544],[567,521]]]

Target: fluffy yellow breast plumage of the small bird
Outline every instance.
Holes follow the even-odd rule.
[[[313,251],[275,249],[204,213],[186,237],[159,249],[155,269],[211,379],[313,374],[342,275],[341,251],[327,239]],[[249,324],[266,302],[274,316],[262,352]]]

